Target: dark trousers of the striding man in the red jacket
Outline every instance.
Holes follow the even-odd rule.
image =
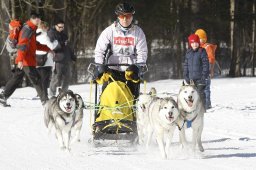
[[[22,70],[15,68],[13,76],[7,82],[4,89],[4,96],[9,98],[13,92],[19,87],[20,83],[22,83],[23,76],[27,75],[33,87],[36,89],[38,96],[41,101],[48,100],[48,97],[45,96],[45,93],[42,88],[40,75],[37,72],[35,67],[32,66],[24,66]]]

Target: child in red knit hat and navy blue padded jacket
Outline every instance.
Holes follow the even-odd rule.
[[[191,34],[188,37],[189,49],[184,61],[184,79],[189,84],[192,80],[205,105],[205,83],[209,75],[209,60],[204,48],[200,47],[198,35]]]

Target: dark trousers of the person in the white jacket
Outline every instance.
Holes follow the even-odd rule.
[[[45,95],[48,96],[47,89],[50,86],[52,67],[51,66],[38,67],[37,71],[41,77],[43,91],[44,91]]]

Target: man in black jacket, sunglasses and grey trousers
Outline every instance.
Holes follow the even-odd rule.
[[[68,37],[64,33],[63,21],[56,22],[56,25],[48,31],[48,36],[50,41],[57,40],[59,42],[58,46],[53,50],[55,52],[53,57],[54,67],[49,91],[49,96],[55,96],[58,86],[61,86],[64,91],[68,90],[71,79],[71,63],[76,58],[67,45]]]

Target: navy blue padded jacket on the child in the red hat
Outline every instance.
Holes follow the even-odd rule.
[[[209,76],[209,60],[204,48],[188,49],[184,62],[184,79],[189,82],[205,83]]]

